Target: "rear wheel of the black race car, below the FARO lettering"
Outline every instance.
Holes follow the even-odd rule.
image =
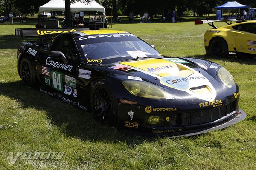
[[[34,71],[31,62],[26,57],[23,57],[20,62],[20,78],[26,87],[34,87]]]

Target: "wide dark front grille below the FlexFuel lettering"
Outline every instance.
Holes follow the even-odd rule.
[[[230,114],[235,110],[236,110],[236,101],[215,109],[181,113],[180,125],[188,126],[188,125],[197,125],[197,124],[202,124],[207,122],[213,122],[217,119],[220,119],[221,117],[226,116],[227,114]],[[179,122],[179,119],[177,119],[177,122]]]

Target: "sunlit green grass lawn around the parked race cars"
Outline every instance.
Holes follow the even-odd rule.
[[[20,42],[29,39],[15,37],[15,28],[31,28],[31,24],[0,24],[0,169],[256,169],[256,61],[206,56],[203,36],[210,28],[207,24],[120,23],[111,28],[136,34],[164,55],[217,62],[238,83],[240,108],[247,113],[244,121],[174,139],[124,135],[95,122],[91,113],[25,88],[17,74],[16,53]],[[20,156],[11,166],[9,152],[14,156],[17,152],[64,155],[55,162],[34,164]]]

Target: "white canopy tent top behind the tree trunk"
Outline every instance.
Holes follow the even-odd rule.
[[[71,3],[70,5],[71,12],[77,13],[81,11],[99,11],[105,13],[105,8],[99,3],[96,3],[94,0],[89,3]],[[39,11],[65,11],[65,1],[64,0],[51,0],[48,3],[39,7]]]

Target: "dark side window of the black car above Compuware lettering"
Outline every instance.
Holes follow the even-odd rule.
[[[51,50],[63,52],[66,58],[70,61],[76,60],[76,50],[73,46],[72,41],[70,40],[70,37],[59,37]]]

